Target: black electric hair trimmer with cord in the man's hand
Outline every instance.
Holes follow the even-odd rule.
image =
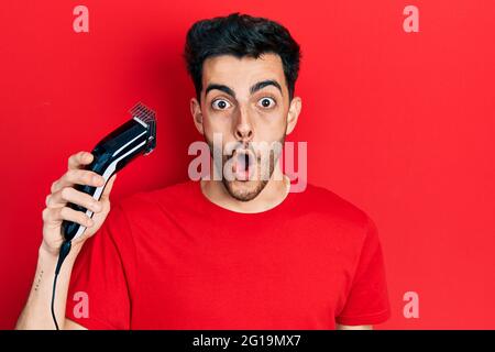
[[[85,169],[92,170],[105,178],[105,184],[100,187],[86,185],[76,185],[74,188],[90,195],[96,200],[100,200],[101,194],[107,186],[109,178],[128,165],[139,155],[150,154],[156,146],[156,120],[155,113],[142,103],[138,103],[129,111],[132,119],[120,125],[117,130],[102,139],[92,150],[92,163],[87,165]],[[89,209],[75,204],[68,204],[72,209],[86,212],[92,218],[94,212]],[[53,282],[52,294],[52,318],[55,328],[58,330],[57,319],[55,317],[55,292],[57,277],[61,272],[62,263],[70,252],[72,241],[82,235],[86,227],[64,220],[62,222],[62,234],[64,242],[61,246],[58,261],[55,268],[55,278]]]

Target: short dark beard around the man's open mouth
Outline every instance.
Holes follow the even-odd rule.
[[[276,143],[279,143],[279,145],[284,145],[284,142],[285,135],[276,141]],[[262,193],[262,190],[268,184],[268,180],[272,178],[275,165],[280,156],[280,153],[276,153],[273,148],[270,148],[268,157],[262,157],[260,155],[260,151],[255,151],[250,143],[244,143],[242,144],[242,150],[251,151],[250,163],[248,162],[248,160],[243,163],[238,163],[235,158],[241,157],[239,156],[240,153],[237,153],[238,150],[234,150],[231,154],[224,155],[223,151],[215,151],[213,143],[208,139],[207,143],[210,147],[210,155],[215,163],[213,172],[221,175],[222,184],[229,195],[240,201],[250,201],[256,198]],[[213,153],[216,152],[220,152],[222,155],[221,165],[218,160],[213,157]],[[239,167],[243,168],[248,164],[250,164],[250,177],[237,177],[239,175],[237,172],[233,173],[233,179],[232,177],[226,177],[226,165],[227,168],[229,168],[229,165],[231,165],[232,163],[235,164],[234,169]]]

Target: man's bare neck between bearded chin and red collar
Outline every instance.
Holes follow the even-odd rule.
[[[235,212],[262,212],[275,208],[284,201],[288,195],[290,180],[282,173],[278,163],[276,163],[265,188],[249,201],[233,198],[221,180],[201,179],[200,185],[205,197],[222,208]]]

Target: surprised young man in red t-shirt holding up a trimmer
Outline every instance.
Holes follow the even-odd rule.
[[[73,188],[101,185],[80,169],[92,155],[70,156],[46,199],[18,328],[54,328],[64,219],[88,226],[58,278],[55,315],[64,329],[370,329],[385,321],[373,221],[323,188],[290,193],[279,154],[263,158],[255,146],[283,143],[296,125],[299,57],[289,32],[266,19],[234,13],[195,23],[185,48],[197,94],[190,110],[211,155],[222,155],[215,166],[223,177],[138,193],[109,212],[114,177],[95,202]],[[86,219],[68,201],[97,213]]]

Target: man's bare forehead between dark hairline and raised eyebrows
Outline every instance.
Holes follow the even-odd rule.
[[[265,79],[285,85],[284,66],[277,54],[266,53],[258,58],[220,55],[208,57],[202,66],[202,87],[215,82],[241,88]]]

